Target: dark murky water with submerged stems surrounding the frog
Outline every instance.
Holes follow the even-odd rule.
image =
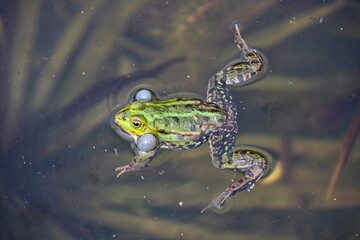
[[[1,239],[359,239],[358,1],[0,6]],[[273,152],[269,177],[204,214],[240,178],[215,169],[207,146],[116,179],[134,154],[114,110],[139,86],[204,97],[238,55],[234,23],[269,63],[231,88],[237,141]]]

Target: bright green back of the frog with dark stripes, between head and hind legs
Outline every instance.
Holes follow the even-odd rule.
[[[172,98],[146,103],[147,124],[157,133],[164,148],[192,148],[221,127],[225,113],[215,104],[200,99]],[[189,147],[187,147],[189,146]]]

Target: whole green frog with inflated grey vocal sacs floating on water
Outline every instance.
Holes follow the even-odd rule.
[[[190,150],[208,142],[213,165],[220,170],[242,172],[202,211],[222,208],[240,191],[249,191],[268,169],[266,151],[235,146],[238,134],[237,106],[227,86],[244,86],[261,78],[265,57],[249,48],[235,25],[235,44],[240,58],[215,73],[208,81],[206,101],[195,97],[159,99],[149,89],[140,89],[130,104],[115,112],[115,127],[134,142],[132,161],[115,169],[117,177],[147,167],[160,149]]]

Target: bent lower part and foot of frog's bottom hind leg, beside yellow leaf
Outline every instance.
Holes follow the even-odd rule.
[[[268,160],[263,150],[252,149],[238,149],[235,150],[229,163],[220,164],[219,168],[224,170],[234,170],[245,172],[238,182],[231,184],[218,195],[208,206],[206,206],[201,213],[205,210],[216,207],[221,208],[224,206],[226,200],[235,195],[239,191],[250,190],[254,184],[265,173],[268,166]]]

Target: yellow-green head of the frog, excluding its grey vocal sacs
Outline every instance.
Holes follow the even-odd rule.
[[[141,135],[152,133],[143,111],[145,105],[146,103],[135,100],[115,114],[115,124],[132,136],[135,142]]]

